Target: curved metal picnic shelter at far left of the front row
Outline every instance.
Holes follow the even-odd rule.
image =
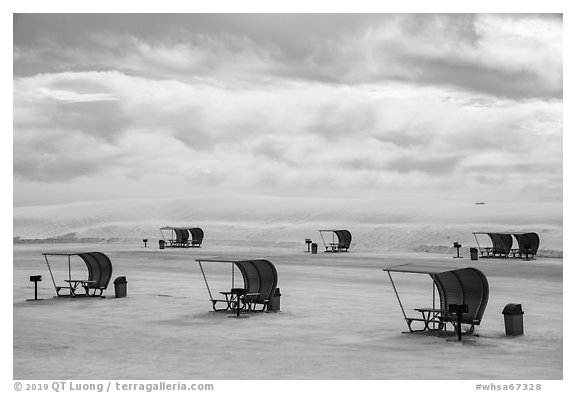
[[[50,272],[50,277],[52,278],[52,283],[54,284],[54,289],[56,294],[60,295],[60,290],[68,289],[69,296],[78,296],[76,289],[78,287],[83,288],[86,291],[86,295],[90,296],[101,296],[106,288],[108,288],[108,283],[112,277],[112,262],[110,258],[101,252],[82,252],[82,253],[68,253],[68,252],[54,252],[54,253],[42,253],[44,259],[46,260],[46,265]],[[49,256],[63,256],[68,260],[68,279],[64,280],[67,285],[57,285],[54,279],[54,274],[52,273],[52,268],[50,262],[48,261]],[[78,279],[77,277],[72,277],[72,258],[79,257],[88,270],[88,276],[84,279]],[[92,291],[92,293],[90,293]]]

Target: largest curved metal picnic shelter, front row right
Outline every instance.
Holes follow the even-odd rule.
[[[468,306],[468,311],[462,314],[462,323],[470,325],[470,332],[474,329],[475,325],[480,325],[484,315],[484,310],[488,304],[488,297],[490,293],[488,280],[486,279],[484,273],[482,273],[480,270],[471,267],[457,268],[433,264],[404,264],[388,267],[383,270],[388,273],[388,277],[390,278],[390,282],[394,288],[398,303],[400,304],[402,315],[404,316],[410,331],[413,331],[411,328],[411,323],[414,320],[422,321],[426,323],[426,326],[428,326],[429,322],[436,322],[431,320],[424,320],[426,318],[412,318],[406,315],[406,311],[404,310],[400,296],[398,295],[396,285],[392,280],[391,273],[393,272],[426,274],[432,279],[432,307],[423,307],[416,310],[420,312],[422,312],[422,310],[426,310],[429,313],[430,310],[435,310],[432,312],[432,314],[434,312],[436,313],[435,315],[432,315],[433,318],[443,318],[444,321],[453,322],[449,315],[450,305],[465,304]],[[438,303],[436,303],[435,298],[436,292],[439,295]],[[422,315],[424,316],[424,312],[422,312]]]

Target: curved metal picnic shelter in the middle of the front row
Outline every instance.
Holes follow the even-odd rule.
[[[238,298],[242,301],[244,307],[250,310],[255,309],[255,305],[261,305],[262,311],[268,307],[268,303],[274,295],[278,285],[278,272],[274,264],[266,259],[228,259],[228,258],[206,258],[196,260],[202,271],[206,289],[212,302],[214,311],[232,310],[235,308],[236,300],[232,297],[233,293],[242,290],[242,297]],[[231,290],[222,291],[220,294],[225,296],[225,299],[215,299],[210,285],[206,279],[206,273],[202,263],[224,263],[232,265],[231,270]],[[242,277],[242,287],[238,286],[236,279],[235,269],[240,271]],[[235,292],[236,291],[236,292]],[[217,307],[219,303],[225,303],[223,308]]]

